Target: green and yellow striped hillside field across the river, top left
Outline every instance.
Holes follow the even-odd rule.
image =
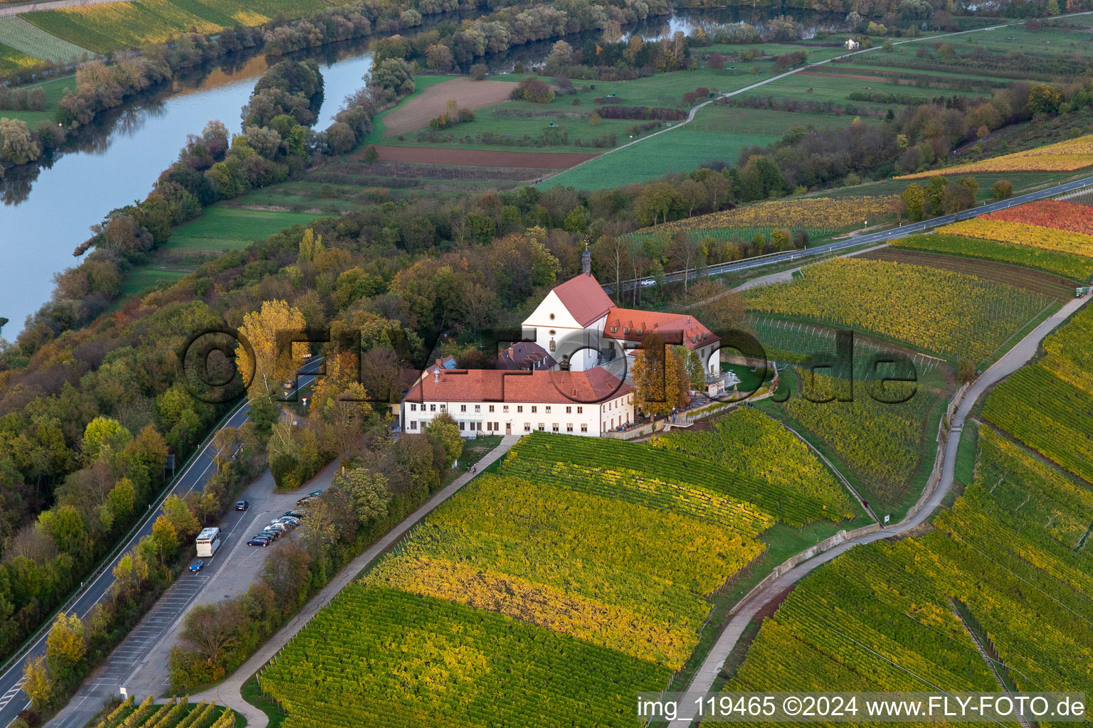
[[[236,23],[258,25],[278,14],[301,17],[318,12],[321,0],[141,0],[44,10],[22,15],[46,33],[99,53],[164,41],[189,31],[215,33]]]

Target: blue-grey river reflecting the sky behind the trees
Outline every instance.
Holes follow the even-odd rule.
[[[682,10],[627,29],[655,39],[697,26],[709,29],[739,21],[757,25],[763,19],[762,11]],[[809,27],[814,28],[815,22]],[[487,64],[498,72],[512,69],[517,60],[525,65],[539,63],[552,45],[520,46],[489,59]],[[293,55],[303,57],[316,59],[321,67],[325,96],[316,129],[325,129],[372,68],[367,40]],[[257,77],[277,60],[267,60],[265,55],[234,58],[225,65],[183,75],[173,87],[103,115],[67,142],[51,163],[12,170],[0,182],[0,249],[4,253],[0,317],[11,320],[0,333],[11,339],[22,331],[26,317],[49,300],[54,275],[75,262],[72,250],[91,236],[91,226],[110,210],[142,200],[160,172],[175,160],[187,134],[200,132],[211,119],[237,131],[239,111]]]

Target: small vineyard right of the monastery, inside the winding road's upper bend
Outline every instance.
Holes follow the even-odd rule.
[[[938,395],[919,386],[907,402],[884,404],[869,396],[859,382],[853,402],[816,402],[846,387],[846,380],[816,373],[801,387],[813,401],[795,392],[777,406],[846,464],[868,500],[892,505],[918,470],[931,434],[927,418]]]

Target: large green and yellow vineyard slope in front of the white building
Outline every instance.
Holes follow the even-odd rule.
[[[686,452],[524,438],[263,669],[286,728],[632,726],[761,534],[853,512],[802,443],[736,417]]]

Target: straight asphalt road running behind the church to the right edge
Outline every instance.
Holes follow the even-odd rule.
[[[1049,187],[1038,192],[1030,192],[1027,194],[1022,194],[1015,198],[1010,198],[1009,200],[1002,200],[1000,202],[991,202],[986,205],[979,205],[978,207],[973,207],[972,210],[965,210],[959,213],[962,220],[968,219],[969,217],[975,217],[977,215],[984,215],[986,213],[992,213],[998,210],[1006,210],[1007,207],[1012,207],[1013,205],[1020,205],[1024,202],[1032,202],[1033,200],[1043,200],[1045,198],[1054,198],[1057,194],[1062,194],[1065,192],[1072,192],[1074,190],[1080,190],[1083,187],[1093,186],[1093,177],[1085,177],[1073,182],[1067,182],[1066,184],[1056,184],[1055,187]],[[830,242],[824,246],[818,246],[815,248],[807,248],[804,250],[789,250],[784,253],[773,253],[769,255],[764,255],[762,258],[753,258],[743,261],[736,261],[732,263],[720,263],[718,265],[710,265],[702,273],[702,276],[715,276],[722,275],[725,273],[732,273],[734,271],[747,271],[749,268],[761,267],[763,265],[771,265],[773,263],[787,263],[791,261],[807,262],[806,259],[813,258],[816,255],[824,255],[827,253],[834,253],[839,250],[845,250],[846,248],[855,248],[857,246],[862,246],[869,242],[872,243],[883,243],[889,240],[895,240],[896,238],[905,238],[908,235],[914,235],[915,232],[925,232],[926,230],[938,227],[940,225],[948,225],[949,223],[956,222],[955,215],[942,215],[941,217],[931,217],[930,219],[922,220],[921,223],[913,223],[910,225],[904,225],[901,227],[894,227],[889,230],[881,230],[879,232],[870,232],[868,235],[858,235],[846,240],[839,240],[837,242]],[[701,277],[695,271],[692,271],[690,276],[691,279]],[[666,283],[674,283],[677,281],[683,279],[683,273],[669,273],[665,276]],[[630,290],[634,287],[635,281],[627,281],[623,285],[624,290]],[[612,293],[610,288],[607,289]]]

